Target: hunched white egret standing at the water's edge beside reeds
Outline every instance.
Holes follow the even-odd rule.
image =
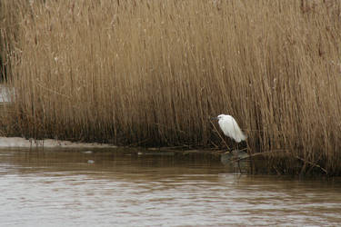
[[[239,128],[238,123],[236,123],[235,118],[231,115],[220,114],[218,115],[218,123],[226,136],[234,139],[236,143],[246,140],[246,135]]]

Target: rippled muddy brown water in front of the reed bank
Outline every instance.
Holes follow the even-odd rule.
[[[341,224],[341,180],[233,173],[216,156],[1,150],[1,226]]]

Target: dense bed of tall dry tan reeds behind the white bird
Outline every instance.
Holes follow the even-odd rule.
[[[208,117],[224,113],[270,171],[341,173],[337,0],[1,5],[15,133],[222,146]]]

